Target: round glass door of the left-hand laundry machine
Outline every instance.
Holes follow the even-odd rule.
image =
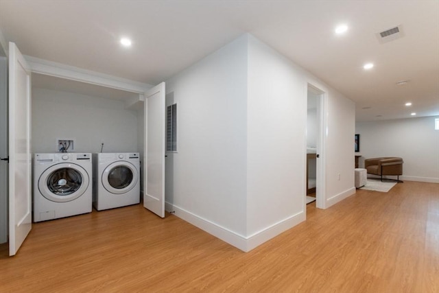
[[[48,200],[69,202],[84,194],[89,183],[86,170],[73,163],[60,163],[45,170],[38,179],[38,189]]]

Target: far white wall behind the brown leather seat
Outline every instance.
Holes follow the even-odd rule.
[[[368,158],[399,156],[404,160],[402,180],[439,183],[439,130],[434,130],[435,118],[357,122],[361,163]]]

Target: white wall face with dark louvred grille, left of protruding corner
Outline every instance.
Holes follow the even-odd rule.
[[[244,237],[246,38],[167,80],[166,91],[178,104],[178,152],[166,159],[174,165],[173,188],[166,171],[167,209],[217,237]]]

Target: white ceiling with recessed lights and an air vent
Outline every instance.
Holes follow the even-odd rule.
[[[344,36],[333,32],[340,23]],[[379,43],[375,34],[396,25],[403,38]],[[439,115],[436,0],[0,0],[0,30],[25,55],[147,84],[248,32],[353,99],[357,121]]]

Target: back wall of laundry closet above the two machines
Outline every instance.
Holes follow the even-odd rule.
[[[75,139],[74,152],[137,152],[137,111],[122,101],[32,89],[32,152],[56,152],[57,138]]]

